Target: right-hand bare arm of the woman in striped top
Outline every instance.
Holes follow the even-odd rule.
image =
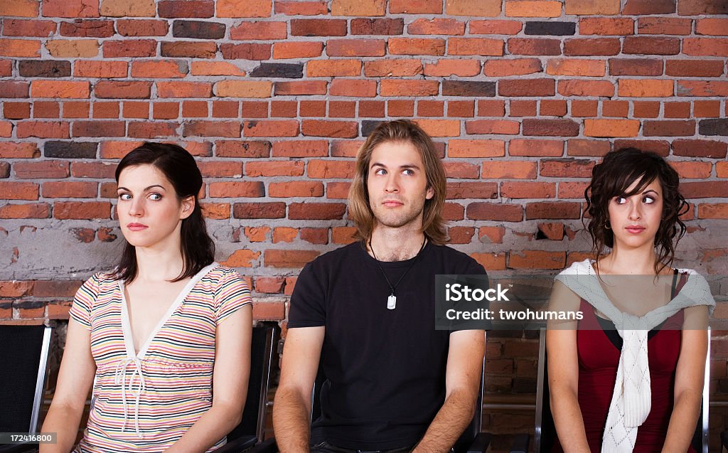
[[[235,428],[242,417],[250,377],[250,337],[253,308],[236,310],[218,324],[215,333],[213,405],[166,451],[206,452]]]

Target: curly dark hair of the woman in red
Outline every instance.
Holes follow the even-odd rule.
[[[627,189],[640,180],[634,189]],[[586,227],[592,237],[592,253],[598,261],[604,256],[604,248],[614,247],[614,233],[606,226],[609,222],[609,201],[614,197],[631,197],[644,190],[652,181],[659,181],[662,187],[662,221],[654,245],[657,248],[655,274],[672,266],[675,247],[685,234],[685,224],[680,216],[689,210],[685,198],[680,194],[678,173],[665,159],[651,151],[636,148],[622,148],[611,151],[592,170],[592,180],[584,191],[587,200],[585,213],[591,221]],[[585,224],[585,218],[582,218]]]

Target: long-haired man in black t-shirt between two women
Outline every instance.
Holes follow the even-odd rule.
[[[485,271],[443,245],[445,197],[427,133],[407,120],[373,130],[349,190],[357,241],[307,264],[291,297],[273,411],[281,452],[447,452],[470,423],[483,331],[435,330],[435,275]]]

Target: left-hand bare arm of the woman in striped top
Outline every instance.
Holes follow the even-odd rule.
[[[96,372],[91,331],[71,318],[55,395],[41,433],[58,433],[58,443],[40,444],[40,453],[67,453],[76,443],[84,405]]]

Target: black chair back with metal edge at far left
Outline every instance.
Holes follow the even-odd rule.
[[[52,328],[0,326],[0,432],[36,433]]]

